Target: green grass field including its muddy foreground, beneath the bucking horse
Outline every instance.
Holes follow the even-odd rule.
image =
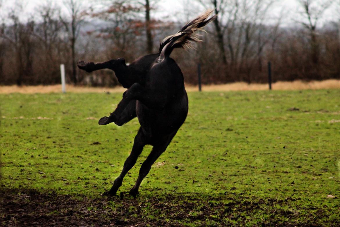
[[[134,199],[150,146],[101,196],[139,127],[98,125],[121,93],[1,94],[0,225],[340,225],[340,90],[188,96]]]

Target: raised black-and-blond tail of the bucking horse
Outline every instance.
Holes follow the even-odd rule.
[[[195,19],[186,23],[186,25],[184,25],[176,34],[164,38],[159,46],[159,59],[163,60],[166,56],[169,56],[175,48],[190,48],[192,47],[191,42],[202,41],[199,39],[199,35],[195,34],[195,32],[198,30],[204,31],[203,27],[216,19],[217,15],[209,18],[212,11],[213,10],[208,10],[204,12]]]

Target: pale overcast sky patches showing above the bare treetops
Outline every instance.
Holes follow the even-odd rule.
[[[46,0],[0,0],[2,1],[2,6],[0,9],[0,17],[3,20],[6,20],[6,15],[8,13],[8,10],[13,8],[14,3],[22,2],[24,9],[21,13],[22,20],[27,19],[28,15],[32,15],[34,12],[34,9],[40,5],[46,2]],[[89,0],[81,0],[86,4]],[[319,2],[326,1],[326,0],[317,0]],[[57,4],[62,5],[63,0],[52,0],[51,2],[55,2]],[[93,1],[90,1],[93,2]],[[190,0],[160,0],[158,3],[158,8],[156,11],[153,12],[152,17],[155,18],[170,18],[171,20],[188,20],[188,17],[192,17],[188,14],[191,10],[193,11],[199,11],[198,7],[195,7],[194,4],[192,4],[194,1]],[[186,8],[184,8],[184,6]],[[324,20],[330,20],[331,16],[334,15],[335,12],[335,6],[331,7],[327,10]],[[271,12],[271,17],[276,18],[280,14],[280,12],[286,13],[285,17],[283,18],[282,23],[283,24],[291,24],[294,22],[294,18],[298,15],[298,9],[299,4],[297,4],[297,0],[278,0],[275,4],[275,7],[273,8],[273,11]],[[339,15],[337,15],[339,16]]]

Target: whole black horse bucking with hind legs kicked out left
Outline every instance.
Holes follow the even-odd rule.
[[[159,53],[143,56],[129,66],[120,58],[103,63],[79,61],[80,69],[91,72],[98,69],[112,69],[123,87],[128,88],[123,94],[116,110],[108,117],[102,117],[99,125],[114,122],[123,125],[138,117],[140,128],[135,137],[130,156],[124,163],[121,174],[106,194],[115,195],[126,173],[134,166],[146,144],[153,146],[148,158],[139,170],[136,184],[130,190],[134,197],[139,185],[147,176],[151,165],[166,150],[177,130],[182,126],[188,113],[188,97],[184,87],[183,74],[176,62],[170,58],[174,48],[190,47],[190,42],[198,42],[194,34],[216,15],[210,17],[207,11],[189,21],[179,32],[163,39]]]

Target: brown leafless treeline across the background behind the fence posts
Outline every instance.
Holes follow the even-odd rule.
[[[197,0],[206,8],[215,8],[218,19],[207,26],[207,33],[201,36],[204,42],[196,49],[172,53],[185,82],[198,82],[198,63],[205,84],[267,82],[269,61],[274,82],[340,79],[340,16],[318,27],[332,1],[319,6],[318,11],[310,10],[313,1],[296,1],[302,6],[301,17],[294,27],[287,27],[280,18],[267,23],[274,0],[233,0],[228,4]],[[96,10],[84,8],[79,0],[68,0],[64,7],[69,14],[58,5],[43,4],[25,22],[19,20],[17,5],[0,26],[0,83],[60,83],[60,64],[65,64],[68,83],[115,86],[118,82],[113,71],[87,74],[78,70],[77,61],[125,58],[132,62],[157,52],[159,42],[186,22],[153,19],[154,7],[148,0],[145,4],[109,2]]]

